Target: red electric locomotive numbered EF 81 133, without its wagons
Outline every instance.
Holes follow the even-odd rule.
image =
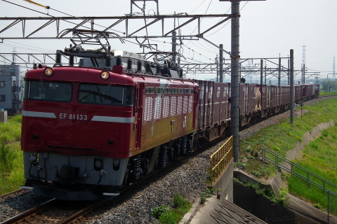
[[[115,56],[111,60],[121,64]],[[121,186],[190,151],[197,92],[192,80],[134,73],[117,64],[27,71],[23,188],[61,200],[118,195]]]

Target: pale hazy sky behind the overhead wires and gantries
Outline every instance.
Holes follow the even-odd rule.
[[[47,13],[47,10],[23,0],[7,0],[21,6]],[[52,9],[50,15],[66,16],[121,16],[131,12],[130,1],[88,1],[88,0],[37,0],[36,2]],[[137,1],[143,7],[143,1]],[[193,14],[226,14],[230,13],[230,2],[215,0],[159,0],[159,14],[188,13]],[[154,1],[147,1],[145,13],[153,14],[157,10]],[[333,0],[266,0],[266,1],[241,1],[240,3],[240,55],[242,58],[258,57],[288,57],[290,49],[294,50],[295,69],[300,69],[305,45],[305,66],[308,72],[320,72],[321,79],[333,77],[333,57],[337,50],[337,1]],[[62,13],[58,13],[55,10]],[[139,12],[133,6],[133,12]],[[0,1],[0,17],[37,17],[46,15],[32,10],[13,6],[6,1]],[[210,27],[220,18],[201,21],[201,26]],[[178,22],[178,21],[177,21]],[[7,24],[0,22],[0,30]],[[140,24],[140,26],[143,25]],[[72,27],[68,27],[72,28]],[[196,24],[185,27],[185,31],[193,32]],[[19,31],[21,28],[16,28]],[[32,27],[34,29],[34,27]],[[97,29],[97,28],[96,28]],[[186,30],[187,29],[187,30]],[[15,27],[11,28],[15,31]],[[8,34],[8,33],[7,33]],[[0,38],[3,34],[0,34]],[[212,43],[223,43],[224,49],[230,51],[230,22],[225,22],[216,29],[206,34]],[[160,50],[171,50],[171,39],[160,38],[154,40],[159,44]],[[165,41],[165,43],[164,43]],[[4,40],[0,43],[0,52],[55,52],[69,46],[67,40]],[[122,44],[112,41],[113,49],[141,51],[138,45]],[[180,52],[187,59],[197,62],[212,63],[218,49],[205,41],[183,41]],[[193,50],[193,51],[192,51]],[[224,55],[228,58],[227,55]],[[1,59],[0,59],[1,60]],[[3,62],[3,60],[1,60]],[[287,66],[286,61],[282,65]],[[268,64],[267,64],[268,66]],[[199,76],[199,75],[197,75]],[[200,75],[201,76],[201,75]],[[214,76],[211,75],[210,78]],[[204,78],[204,77],[202,77]]]

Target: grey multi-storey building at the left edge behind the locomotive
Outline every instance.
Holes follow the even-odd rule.
[[[0,65],[0,109],[8,114],[22,110],[22,78],[19,65]]]

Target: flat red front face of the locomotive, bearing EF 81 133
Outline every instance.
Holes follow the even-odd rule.
[[[81,68],[53,70],[53,78],[41,78],[44,69],[29,71],[25,78],[21,144],[26,188],[63,200],[115,195],[134,147],[135,86],[123,83],[120,75],[111,80],[110,72],[106,82],[90,78],[100,74],[98,69],[86,69],[88,76]],[[71,78],[65,78],[67,73]]]

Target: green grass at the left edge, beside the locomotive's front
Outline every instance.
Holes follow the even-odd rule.
[[[0,123],[0,195],[17,190],[24,183],[20,150],[22,116]]]

